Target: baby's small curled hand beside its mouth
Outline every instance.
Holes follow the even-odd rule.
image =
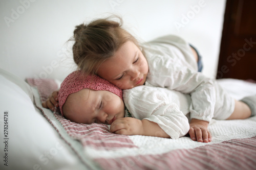
[[[121,135],[141,135],[143,131],[141,120],[133,117],[118,118],[110,126],[110,132]]]

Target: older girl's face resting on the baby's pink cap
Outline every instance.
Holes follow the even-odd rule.
[[[146,58],[132,41],[125,42],[113,57],[101,64],[97,72],[98,76],[123,90],[143,85],[147,73]]]

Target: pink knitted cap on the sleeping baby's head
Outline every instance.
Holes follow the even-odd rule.
[[[96,75],[84,76],[80,70],[74,71],[68,77],[66,77],[66,79],[60,85],[58,100],[59,109],[62,116],[62,107],[65,104],[68,95],[84,88],[89,88],[92,90],[107,90],[123,99],[122,90],[116,87],[114,84],[111,84],[109,81],[106,81],[105,79],[102,79]]]

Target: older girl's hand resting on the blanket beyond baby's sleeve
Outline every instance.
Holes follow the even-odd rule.
[[[190,138],[198,142],[210,142],[211,134],[208,131],[208,122],[199,119],[191,119],[189,135]]]

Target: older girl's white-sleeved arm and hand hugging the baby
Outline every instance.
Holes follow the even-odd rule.
[[[168,65],[168,62],[165,64]],[[164,68],[165,71],[159,71],[159,75],[156,76],[158,80],[155,83],[164,82],[158,85],[183,93],[189,93],[191,96],[190,118],[193,120],[190,123],[189,130],[191,139],[199,142],[211,141],[208,124],[214,116],[215,111],[217,95],[215,89],[217,85],[216,81],[206,78],[200,72],[192,71],[187,67],[178,68],[169,64]],[[173,76],[168,76],[166,72],[172,72]]]

